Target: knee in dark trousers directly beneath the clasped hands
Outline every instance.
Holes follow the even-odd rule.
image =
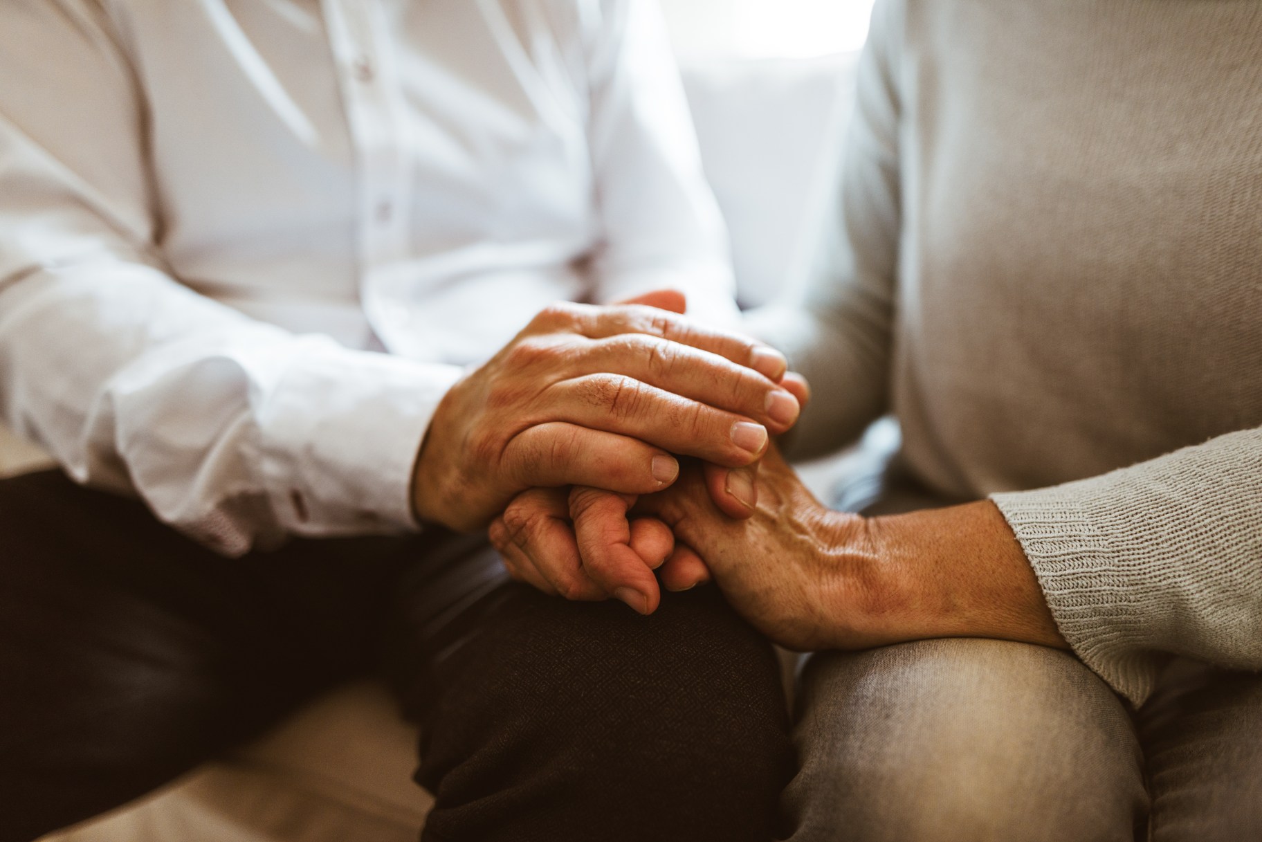
[[[430,722],[439,804],[444,788],[458,800],[453,781],[511,766],[529,771],[498,785],[564,792],[604,817],[601,838],[770,838],[793,765],[779,664],[717,593],[670,595],[650,617],[535,596],[515,611]],[[440,745],[456,720],[478,735],[472,754]]]

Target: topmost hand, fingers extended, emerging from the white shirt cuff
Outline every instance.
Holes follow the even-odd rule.
[[[531,487],[659,491],[678,476],[673,453],[751,465],[796,420],[779,352],[659,307],[550,307],[443,398],[414,509],[467,531]]]

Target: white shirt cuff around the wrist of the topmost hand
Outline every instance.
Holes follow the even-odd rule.
[[[316,346],[262,408],[260,465],[286,531],[304,537],[418,528],[411,473],[457,366]]]

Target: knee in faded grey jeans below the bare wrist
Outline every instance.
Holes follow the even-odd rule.
[[[1132,839],[1142,824],[1129,716],[1065,653],[993,640],[834,653],[803,692],[785,799],[799,842]]]

